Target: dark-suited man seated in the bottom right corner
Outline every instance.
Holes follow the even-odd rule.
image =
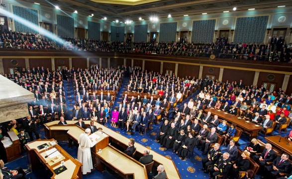
[[[276,179],[279,173],[291,173],[292,166],[289,157],[289,154],[284,153],[273,161],[273,165],[266,165],[263,178]]]

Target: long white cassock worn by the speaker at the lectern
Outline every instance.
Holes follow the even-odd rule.
[[[79,136],[79,147],[77,159],[83,164],[82,174],[86,175],[90,173],[93,169],[92,157],[91,157],[91,147],[95,145],[86,133],[80,134]]]

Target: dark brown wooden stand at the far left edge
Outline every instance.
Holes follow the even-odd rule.
[[[0,150],[5,150],[7,162],[9,162],[21,156],[21,147],[20,147],[19,138],[13,131],[7,132],[6,140],[7,141],[4,142],[4,144],[10,143],[11,145],[4,146],[4,148],[3,149],[1,148]],[[3,141],[1,142],[3,143]]]

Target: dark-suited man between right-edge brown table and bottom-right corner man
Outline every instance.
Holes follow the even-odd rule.
[[[259,162],[261,167],[264,167],[267,162],[273,162],[276,158],[276,153],[272,149],[272,145],[270,143],[266,144],[266,147],[260,156],[255,155],[254,161]]]

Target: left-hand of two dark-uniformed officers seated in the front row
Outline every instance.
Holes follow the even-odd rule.
[[[207,173],[206,166],[214,165],[221,157],[221,150],[219,148],[220,144],[215,143],[214,147],[209,150],[208,156],[202,159],[202,171],[204,171],[204,173]]]

